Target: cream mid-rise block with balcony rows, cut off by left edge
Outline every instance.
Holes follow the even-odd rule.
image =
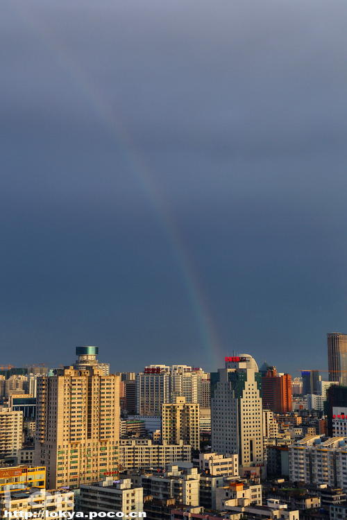
[[[22,448],[23,413],[0,408],[0,458],[17,456]]]

